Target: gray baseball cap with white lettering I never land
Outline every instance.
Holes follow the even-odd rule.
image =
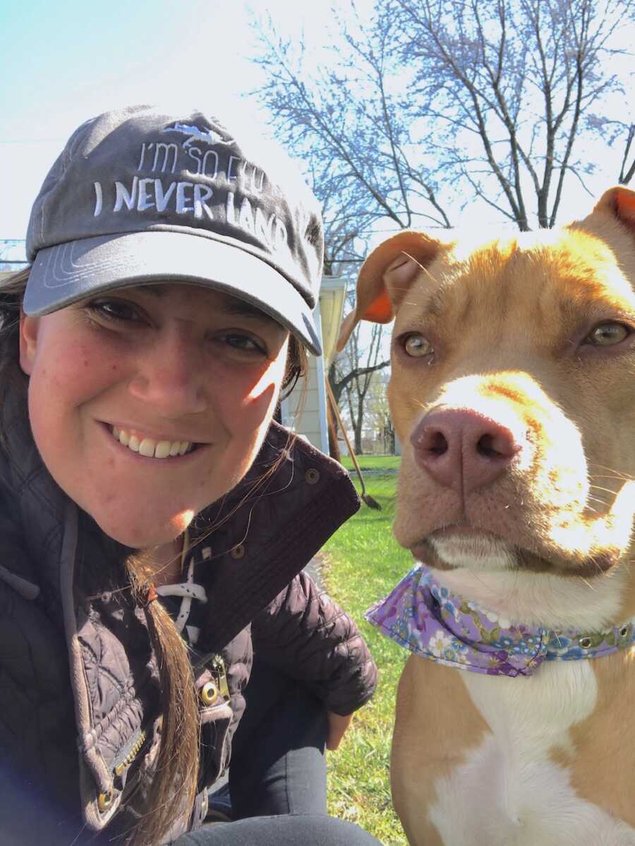
[[[31,211],[25,313],[140,283],[194,283],[256,305],[320,354],[320,207],[282,151],[241,131],[148,106],[82,124]]]

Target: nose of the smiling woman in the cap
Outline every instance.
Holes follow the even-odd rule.
[[[205,366],[200,345],[184,331],[164,331],[146,346],[129,383],[135,399],[169,418],[200,414],[207,408]]]

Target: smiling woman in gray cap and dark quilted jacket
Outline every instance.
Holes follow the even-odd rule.
[[[106,113],[48,174],[3,291],[3,843],[375,842],[315,815],[201,827],[252,623],[333,748],[375,684],[298,575],[351,486],[272,423],[320,352],[321,251],[289,163],[202,113]]]

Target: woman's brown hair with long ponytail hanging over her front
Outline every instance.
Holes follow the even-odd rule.
[[[28,278],[29,268],[26,268],[0,283],[0,403],[3,403],[6,393],[12,388],[24,392],[26,402],[28,380],[18,365],[18,342],[20,306]],[[285,395],[293,390],[298,378],[304,376],[306,364],[304,346],[292,335],[289,339],[287,371],[282,382]],[[0,440],[4,443],[2,426]],[[287,444],[287,447],[290,445]],[[222,522],[229,519],[235,510],[260,489],[277,466],[274,464],[269,467],[255,481]],[[215,528],[216,525],[211,526],[205,536]],[[199,706],[187,646],[161,602],[147,602],[155,575],[150,556],[145,552],[130,555],[125,566],[133,595],[145,607],[148,632],[159,669],[162,715],[161,746],[155,775],[146,794],[144,807],[135,808],[141,815],[140,823],[128,843],[131,846],[154,846],[178,817],[189,814],[194,805],[200,758]]]

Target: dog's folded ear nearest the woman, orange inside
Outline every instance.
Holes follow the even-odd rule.
[[[404,230],[370,253],[359,271],[355,308],[342,321],[337,351],[360,320],[390,323],[413,279],[438,255],[441,242]]]

